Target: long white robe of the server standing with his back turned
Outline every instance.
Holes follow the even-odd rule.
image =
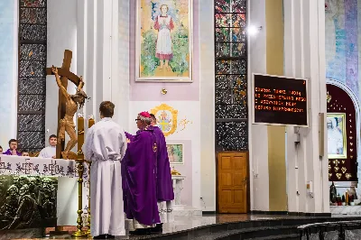
[[[88,129],[83,145],[90,169],[91,235],[125,235],[122,174],[125,131],[105,117]]]

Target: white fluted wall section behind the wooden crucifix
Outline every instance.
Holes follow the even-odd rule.
[[[90,99],[79,112],[88,118],[94,115],[99,120],[99,104],[111,100],[116,104],[115,119],[121,125],[127,125],[129,85],[126,74],[128,53],[126,52],[128,34],[119,27],[128,23],[127,2],[118,5],[118,1],[66,0],[48,2],[48,66],[61,67],[63,52],[73,53],[70,71],[82,76],[84,90]],[[121,10],[122,14],[118,14]],[[67,13],[64,17],[64,13]],[[120,31],[119,31],[120,30]],[[120,34],[119,32],[122,32]],[[121,39],[122,49],[119,48]],[[122,53],[122,54],[119,54]],[[119,56],[122,56],[119,66]],[[122,75],[119,76],[119,73]],[[121,94],[119,90],[122,89]],[[69,93],[75,93],[75,87],[69,83]],[[46,129],[48,134],[56,133],[58,87],[55,78],[47,77]],[[76,120],[76,119],[75,119]]]

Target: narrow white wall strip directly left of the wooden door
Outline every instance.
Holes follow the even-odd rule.
[[[199,0],[200,186],[203,211],[216,210],[214,1]],[[195,40],[197,41],[197,40]],[[197,161],[197,160],[195,160]]]

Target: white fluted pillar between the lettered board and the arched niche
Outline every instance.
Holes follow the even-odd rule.
[[[319,158],[319,113],[326,113],[325,10],[324,1],[283,1],[285,75],[310,78],[310,127],[301,128],[295,147],[293,127],[287,128],[288,206],[290,212],[329,212],[327,141]],[[326,122],[324,139],[327,139]],[[313,197],[306,192],[313,182]],[[299,191],[300,195],[297,195]]]

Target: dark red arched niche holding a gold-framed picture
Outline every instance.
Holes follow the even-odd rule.
[[[346,191],[357,187],[360,108],[356,96],[344,84],[329,79],[327,91],[329,181]]]

